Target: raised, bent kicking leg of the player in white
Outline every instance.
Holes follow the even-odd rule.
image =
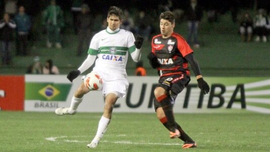
[[[76,90],[74,93],[70,107],[60,107],[55,110],[55,113],[57,115],[74,115],[77,112],[77,108],[79,104],[83,101],[83,97],[86,93],[89,92],[89,89],[85,87],[84,83],[81,84],[81,86]]]

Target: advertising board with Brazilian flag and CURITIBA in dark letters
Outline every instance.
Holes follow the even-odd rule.
[[[195,78],[178,95],[174,112],[227,112],[228,109],[248,109],[270,113],[270,109],[254,107],[247,103],[264,102],[270,104],[269,90],[260,90],[270,86],[266,78],[204,78],[211,91],[203,95]],[[130,86],[125,97],[114,106],[114,112],[155,112],[153,90],[159,77],[128,77]],[[81,77],[70,83],[66,75],[25,75],[25,111],[54,111],[58,107],[69,107],[71,98],[81,85]],[[270,87],[269,87],[270,88]],[[255,91],[254,91],[255,90]],[[256,91],[257,90],[257,91]],[[256,94],[257,93],[257,94]],[[89,92],[84,96],[78,112],[102,112],[104,98],[101,91]]]

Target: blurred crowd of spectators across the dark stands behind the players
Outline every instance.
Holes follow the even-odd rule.
[[[242,2],[240,0],[222,1],[220,2],[222,5],[212,3],[212,0],[162,0],[158,3],[148,0],[110,2],[113,5],[119,5],[119,7],[123,6],[124,19],[121,28],[133,32],[135,36],[142,35],[145,41],[149,41],[152,34],[159,32],[157,31],[159,25],[155,24],[156,18],[159,18],[158,15],[164,11],[174,12],[176,22],[187,21],[187,43],[194,48],[200,48],[198,29],[203,15],[206,14],[207,21],[210,23],[218,22],[218,18],[225,12],[224,10],[229,10],[232,13],[232,21],[240,24],[239,33],[243,41],[267,42],[270,33],[270,10],[259,8],[259,2],[261,1],[256,4],[257,14],[254,16],[250,12],[242,14],[239,11]],[[249,2],[253,1],[250,0]],[[0,41],[3,65],[11,64],[12,44],[16,46],[17,56],[31,55],[28,41],[31,34],[35,32],[46,33],[46,41],[44,41],[46,44],[44,45],[47,48],[61,49],[63,47],[61,34],[70,25],[73,34],[78,35],[79,43],[76,47],[76,55],[82,56],[82,53],[89,47],[91,37],[99,30],[106,28],[105,10],[107,10],[106,7],[111,5],[107,1],[83,0],[43,0],[32,3],[27,4],[18,0],[0,0],[0,6],[3,8],[0,10],[2,15],[0,20]],[[40,7],[39,12],[34,12],[34,5],[40,6],[38,3],[43,4],[44,7]],[[101,4],[104,5],[104,8]],[[150,9],[149,6],[151,6]],[[26,13],[27,8],[31,10],[28,11],[29,14]],[[40,18],[35,15],[38,13],[41,14]],[[72,16],[71,22],[66,20],[67,14]],[[238,16],[242,17],[239,18]],[[33,17],[38,18],[38,20],[33,19]],[[33,29],[34,25],[35,29]]]

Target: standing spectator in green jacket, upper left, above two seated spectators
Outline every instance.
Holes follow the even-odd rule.
[[[43,12],[43,25],[46,26],[48,34],[47,47],[51,48],[55,42],[55,47],[61,49],[60,31],[64,26],[64,18],[63,12],[56,5],[55,0],[52,0],[51,5]]]

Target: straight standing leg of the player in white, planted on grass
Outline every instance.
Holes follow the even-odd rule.
[[[89,148],[97,147],[99,140],[103,137],[104,133],[106,132],[108,128],[108,125],[111,120],[112,109],[118,98],[119,98],[119,95],[117,93],[109,93],[106,95],[104,112],[101,119],[99,120],[96,136],[91,141],[91,143],[87,145],[87,147]]]

